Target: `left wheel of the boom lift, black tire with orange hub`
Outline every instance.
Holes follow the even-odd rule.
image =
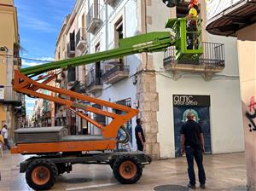
[[[46,159],[32,161],[26,170],[26,183],[35,190],[47,190],[55,184],[58,169]]]

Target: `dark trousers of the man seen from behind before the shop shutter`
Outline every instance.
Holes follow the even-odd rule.
[[[200,184],[205,184],[206,183],[206,174],[204,170],[204,166],[202,164],[203,160],[203,155],[201,148],[191,148],[191,147],[186,147],[186,157],[187,157],[187,162],[188,162],[188,174],[189,174],[189,183],[192,185],[195,185],[195,171],[194,171],[194,158],[195,162],[198,167],[198,178]]]

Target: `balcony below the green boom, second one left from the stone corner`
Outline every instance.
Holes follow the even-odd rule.
[[[85,79],[85,90],[88,93],[95,94],[97,91],[102,90],[102,71],[95,72],[95,70],[90,70],[86,75]]]

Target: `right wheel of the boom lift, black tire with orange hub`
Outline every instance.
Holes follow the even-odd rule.
[[[143,166],[137,157],[123,155],[113,163],[113,176],[123,184],[136,183],[143,175]]]

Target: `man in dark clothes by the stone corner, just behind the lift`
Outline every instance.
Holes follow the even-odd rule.
[[[135,136],[137,142],[137,150],[143,151],[144,143],[145,143],[145,136],[143,132],[143,121],[141,119],[136,119],[136,127],[135,127]]]

